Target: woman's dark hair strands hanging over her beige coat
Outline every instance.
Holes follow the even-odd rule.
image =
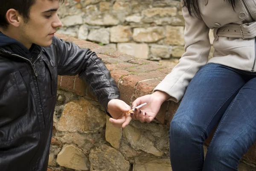
[[[198,0],[183,0],[184,1],[184,6],[189,10],[189,14],[192,16],[192,14],[200,14],[199,11],[199,5],[198,5]],[[232,8],[235,10],[236,8],[236,3],[237,0],[224,0],[229,3]]]

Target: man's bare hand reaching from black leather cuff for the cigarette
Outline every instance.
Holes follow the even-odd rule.
[[[119,99],[112,99],[108,102],[108,113],[111,114],[113,118],[109,119],[109,122],[117,128],[125,128],[131,122],[131,115],[126,114],[131,110],[131,107],[124,101]]]

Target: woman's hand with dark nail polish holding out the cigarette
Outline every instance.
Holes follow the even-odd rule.
[[[132,119],[148,123],[153,121],[153,119],[157,116],[163,102],[169,98],[170,96],[162,91],[156,91],[151,95],[139,97],[132,103],[133,107],[135,107],[134,113],[131,113]],[[136,106],[143,103],[147,103],[147,105],[140,109],[136,108]]]

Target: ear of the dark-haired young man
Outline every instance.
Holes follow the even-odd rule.
[[[10,25],[18,27],[20,26],[20,23],[22,22],[23,17],[20,15],[20,13],[17,10],[9,9],[6,12],[6,19]]]

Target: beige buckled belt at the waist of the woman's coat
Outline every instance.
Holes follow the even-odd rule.
[[[255,38],[256,37],[256,22],[245,23],[245,24],[226,24],[218,28],[218,36],[228,38]]]

